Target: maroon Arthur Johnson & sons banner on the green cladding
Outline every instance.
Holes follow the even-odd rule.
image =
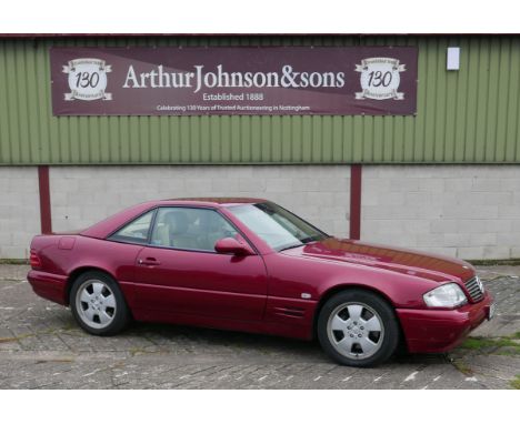
[[[54,115],[414,114],[414,47],[52,48]]]

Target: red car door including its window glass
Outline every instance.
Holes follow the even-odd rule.
[[[183,315],[260,321],[267,274],[260,255],[217,253],[217,240],[247,243],[218,211],[159,208],[150,244],[136,262],[138,307]]]

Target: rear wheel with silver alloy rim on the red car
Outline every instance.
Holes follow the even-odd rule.
[[[118,283],[109,275],[89,271],[72,283],[70,307],[78,324],[94,335],[112,335],[129,321],[127,302]]]

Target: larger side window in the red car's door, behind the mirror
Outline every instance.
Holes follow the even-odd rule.
[[[160,208],[151,244],[214,252],[219,239],[234,238],[237,231],[217,211],[199,208]]]

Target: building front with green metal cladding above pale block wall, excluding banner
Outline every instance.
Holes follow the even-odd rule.
[[[52,49],[137,47],[411,47],[416,109],[53,111]],[[454,70],[450,47],[460,48]],[[36,233],[86,228],[144,200],[213,195],[270,199],[339,236],[520,258],[519,92],[517,36],[0,38],[0,259],[27,258]]]

